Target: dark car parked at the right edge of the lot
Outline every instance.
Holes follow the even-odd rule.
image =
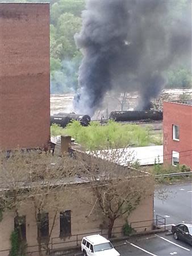
[[[182,240],[192,246],[192,224],[180,223],[172,226],[174,239]]]

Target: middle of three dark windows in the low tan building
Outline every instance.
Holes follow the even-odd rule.
[[[39,222],[37,229],[38,237],[48,237],[49,236],[49,213],[38,213],[37,219]]]

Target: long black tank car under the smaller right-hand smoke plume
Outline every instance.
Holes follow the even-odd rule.
[[[139,120],[162,120],[162,112],[159,110],[133,110],[114,111],[110,113],[110,119],[115,121],[139,121]]]

